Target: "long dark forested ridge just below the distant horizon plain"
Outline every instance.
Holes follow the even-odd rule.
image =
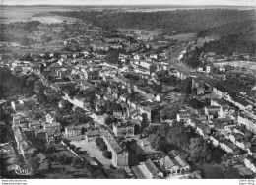
[[[114,29],[165,29],[176,32],[199,32],[233,22],[255,20],[254,10],[194,9],[164,12],[52,12],[79,18],[100,27]]]

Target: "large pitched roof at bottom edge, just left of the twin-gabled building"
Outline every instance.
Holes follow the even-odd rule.
[[[137,179],[160,179],[160,171],[150,159],[133,166],[132,171]]]

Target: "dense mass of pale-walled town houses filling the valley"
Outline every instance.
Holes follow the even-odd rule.
[[[207,65],[204,68],[199,67],[197,72],[189,72],[166,62],[169,53],[167,49],[161,49],[158,54],[143,52],[144,47],[157,49],[168,44],[168,40],[158,40],[146,31],[122,31],[121,36],[111,36],[111,31],[103,31],[95,26],[77,24],[74,27],[76,28],[69,28],[67,34],[77,35],[79,31],[85,30],[85,37],[65,39],[60,44],[63,48],[57,49],[58,53],[34,51],[31,53],[32,61],[1,61],[0,66],[8,66],[14,74],[37,75],[39,80],[34,84],[34,92],[43,91],[47,97],[61,97],[59,108],[63,107],[63,102],[68,102],[73,105],[73,109],[83,109],[88,115],[91,115],[89,112],[94,112],[94,115],[104,114],[117,121],[113,122],[110,129],[97,128],[98,123],[95,120],[93,123],[62,127],[56,121],[54,111],[45,111],[41,119],[36,119],[28,112],[28,106],[36,105],[37,100],[20,98],[11,102],[15,112],[12,128],[20,154],[25,157],[34,150],[26,139],[26,135],[31,132],[35,138],[46,143],[55,142],[58,138],[72,138],[90,143],[100,137],[111,152],[112,165],[129,166],[133,156],[117,138],[133,137],[136,125],[141,124],[144,116],[152,123],[156,107],[160,104],[167,106],[162,93],[153,88],[160,85],[162,92],[172,90],[173,87],[163,85],[157,75],[157,72],[164,70],[168,75],[182,81],[192,77],[192,96],[199,100],[211,99],[210,105],[203,110],[180,109],[176,120],[191,125],[199,135],[226,153],[242,156],[243,164],[256,173],[256,101],[215,83],[213,78],[225,78],[224,67],[218,68],[222,72],[219,77],[211,74],[215,63],[238,59],[240,56],[227,58],[216,53],[202,53],[199,58]],[[58,24],[52,27],[54,32],[63,29]],[[29,37],[33,41],[41,41],[41,34],[41,31],[33,31]],[[131,41],[131,37],[138,41]],[[200,46],[211,40],[198,39],[195,45]],[[119,53],[115,58],[116,62],[107,62],[105,58],[112,49],[126,52]],[[172,47],[171,49],[175,50]],[[186,53],[186,50],[181,51],[178,61]],[[244,60],[252,59],[246,54],[241,56]],[[201,75],[203,73],[206,75]],[[133,79],[134,76],[139,80]],[[139,165],[133,165],[131,170],[136,178],[158,179],[182,176],[189,173],[190,166],[179,155],[165,155],[158,161],[148,159]]]

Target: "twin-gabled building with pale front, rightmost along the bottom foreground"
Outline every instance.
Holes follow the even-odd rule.
[[[180,156],[175,156],[174,158],[164,156],[160,158],[160,167],[168,176],[184,174],[190,170],[190,166]]]

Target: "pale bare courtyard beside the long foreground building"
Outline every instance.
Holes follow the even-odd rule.
[[[109,166],[111,164],[111,161],[105,158],[102,155],[102,152],[99,151],[99,149],[96,147],[95,142],[87,143],[82,140],[82,141],[72,141],[70,144],[73,144],[76,147],[80,147],[81,151],[87,151],[90,157],[96,158],[96,160],[100,161],[100,163],[104,166]]]

